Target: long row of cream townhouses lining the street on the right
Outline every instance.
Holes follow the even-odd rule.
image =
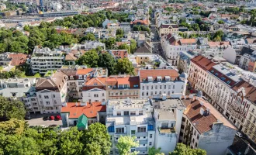
[[[217,64],[202,56],[194,57],[189,67],[189,84],[192,88],[202,91],[219,112],[255,142],[254,81],[247,81],[244,74],[236,72],[235,68],[229,65]]]

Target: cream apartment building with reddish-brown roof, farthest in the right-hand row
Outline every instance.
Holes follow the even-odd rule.
[[[203,56],[196,56],[190,60],[190,69],[189,69],[189,84],[201,91],[205,90],[206,88],[206,81],[207,81],[207,71],[211,67],[216,65],[211,60],[207,59]]]

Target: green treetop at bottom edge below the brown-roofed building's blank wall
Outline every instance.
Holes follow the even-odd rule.
[[[175,150],[169,155],[206,155],[206,150],[191,149],[189,146],[185,146],[183,143],[178,143]]]

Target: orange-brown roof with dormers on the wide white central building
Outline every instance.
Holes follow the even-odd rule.
[[[153,77],[155,79],[157,76],[162,78],[165,76],[170,76],[172,81],[175,81],[175,79],[178,77],[178,71],[174,69],[140,70],[139,74],[140,82],[142,82],[143,79],[147,79],[147,77]]]

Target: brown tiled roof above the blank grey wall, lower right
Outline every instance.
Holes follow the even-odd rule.
[[[193,126],[199,131],[199,133],[205,133],[213,129],[213,124],[216,122],[223,122],[224,126],[228,126],[232,129],[237,129],[233,126],[220,112],[202,98],[182,98],[182,102],[186,106],[184,115],[188,117]],[[202,105],[201,105],[201,103]],[[209,108],[209,115],[201,115],[200,109],[206,111]]]

